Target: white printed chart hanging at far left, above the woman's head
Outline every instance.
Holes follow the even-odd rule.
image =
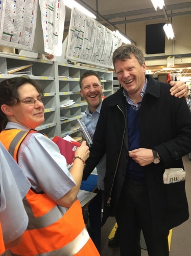
[[[36,28],[37,5],[38,0],[0,1],[0,15],[2,17],[0,44],[32,50]]]

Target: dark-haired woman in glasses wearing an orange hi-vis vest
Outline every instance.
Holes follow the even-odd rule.
[[[97,256],[77,200],[89,149],[82,142],[69,173],[57,145],[35,130],[44,122],[44,100],[42,86],[28,77],[0,83],[0,141],[31,183],[23,199],[29,225],[12,252]]]

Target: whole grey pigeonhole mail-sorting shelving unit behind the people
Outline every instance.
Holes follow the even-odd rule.
[[[0,53],[0,70],[2,72],[0,82],[7,78],[19,76],[7,74],[9,69],[30,64],[32,66],[24,69],[24,71],[28,71],[27,75],[30,78],[38,80],[42,84],[46,97],[44,103],[45,122],[38,126],[37,130],[45,133],[50,139],[55,135],[62,137],[67,134],[81,136],[80,129],[72,130],[72,127],[78,125],[77,120],[82,118],[82,112],[87,107],[87,102],[84,102],[80,94],[80,76],[86,70],[96,72],[101,77],[103,96],[109,96],[113,93],[113,72],[101,68],[81,67],[80,65]],[[60,102],[63,100],[74,100],[75,104],[60,107]],[[67,116],[68,119],[60,121],[60,116]]]

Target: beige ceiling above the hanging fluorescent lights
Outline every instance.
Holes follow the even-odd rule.
[[[164,12],[160,9],[155,11],[151,0],[76,0],[81,5],[89,7],[100,16],[107,19],[112,25],[151,21],[163,18]],[[191,15],[191,1],[189,0],[164,0],[166,13],[169,19],[174,16]],[[66,10],[66,21],[70,19],[70,10]],[[101,19],[97,18],[99,22]],[[108,25],[106,25],[108,26]]]

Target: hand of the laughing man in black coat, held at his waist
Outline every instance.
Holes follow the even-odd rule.
[[[148,148],[138,148],[129,151],[129,156],[140,166],[150,165],[154,160],[153,151]]]

